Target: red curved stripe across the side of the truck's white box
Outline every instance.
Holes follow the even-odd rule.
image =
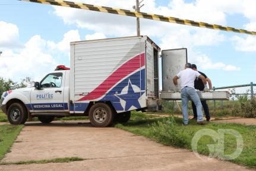
[[[141,62],[140,62],[141,61]],[[141,66],[140,66],[141,63]],[[110,88],[113,87],[116,83],[118,83],[123,78],[127,77],[132,72],[137,69],[143,67],[145,65],[145,53],[141,53],[140,55],[135,56],[129,61],[125,62],[122,66],[116,69],[102,84],[100,84],[97,88],[91,91],[86,96],[77,100],[77,102],[84,100],[94,100],[102,97]]]

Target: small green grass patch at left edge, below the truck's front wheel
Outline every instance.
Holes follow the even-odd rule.
[[[10,148],[22,128],[23,125],[0,125],[0,160],[10,152]]]

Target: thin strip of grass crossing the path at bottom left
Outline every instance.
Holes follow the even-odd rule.
[[[10,164],[45,164],[45,163],[68,163],[68,162],[76,162],[83,161],[81,157],[65,157],[65,158],[57,158],[57,159],[49,159],[49,160],[30,160],[30,161],[21,161],[21,162],[1,162],[0,165],[10,165]]]

